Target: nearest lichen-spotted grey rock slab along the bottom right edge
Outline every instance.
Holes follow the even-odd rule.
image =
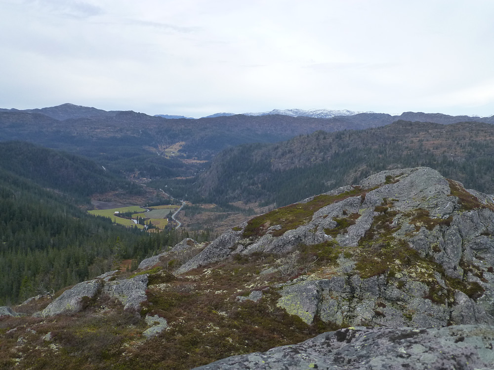
[[[356,327],[264,353],[233,356],[195,370],[494,369],[494,328]]]

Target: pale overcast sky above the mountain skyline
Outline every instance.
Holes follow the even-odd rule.
[[[492,0],[0,0],[0,108],[494,114]]]

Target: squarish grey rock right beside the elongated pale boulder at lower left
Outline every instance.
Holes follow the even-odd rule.
[[[118,298],[124,304],[124,310],[140,311],[141,302],[147,299],[148,275],[138,275],[131,279],[105,283],[103,293]]]

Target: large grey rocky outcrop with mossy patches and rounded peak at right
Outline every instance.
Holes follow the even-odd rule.
[[[279,292],[278,306],[306,323],[494,324],[493,199],[431,168],[383,171],[244,222],[175,273],[262,252],[291,264],[265,271],[303,274],[310,261],[296,254],[321,246],[339,253],[331,277],[312,273]]]

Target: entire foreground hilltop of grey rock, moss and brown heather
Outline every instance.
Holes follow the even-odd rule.
[[[493,220],[494,196],[434,169],[380,172],[2,308],[1,365],[190,369],[326,333],[204,369],[489,369]]]

